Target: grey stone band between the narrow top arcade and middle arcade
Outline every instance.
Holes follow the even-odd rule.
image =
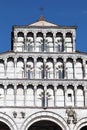
[[[36,53],[30,53],[30,52],[26,52],[26,53],[17,53],[16,55],[15,55],[16,53],[4,53],[4,54],[2,54],[2,55],[0,55],[0,59],[3,59],[3,60],[6,60],[6,59],[8,59],[8,58],[10,58],[10,57],[12,57],[13,59],[14,58],[19,58],[19,57],[22,57],[23,59],[24,58],[28,58],[28,57],[32,57],[32,58],[38,58],[38,57],[43,57],[43,58],[45,58],[45,59],[47,59],[48,57],[49,57],[49,53],[37,53],[37,55],[36,55]],[[76,60],[76,59],[78,59],[78,58],[80,58],[80,59],[83,59],[84,61],[86,61],[87,60],[87,55],[82,55],[82,54],[75,54],[75,53],[70,53],[70,54],[66,54],[66,53],[56,53],[56,54],[50,54],[50,57],[51,58],[55,58],[55,59],[58,59],[58,58],[62,58],[62,59],[68,59],[68,58],[71,58],[71,59],[73,59],[73,60]]]

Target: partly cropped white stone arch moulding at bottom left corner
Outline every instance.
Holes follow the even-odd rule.
[[[15,122],[5,113],[0,113],[0,122],[6,124],[10,130],[18,130]]]

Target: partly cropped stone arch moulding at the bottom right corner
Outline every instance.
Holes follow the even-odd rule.
[[[87,117],[79,120],[76,124],[76,126],[74,127],[74,130],[83,130],[82,128],[85,127],[87,128]],[[85,129],[84,129],[85,130]]]

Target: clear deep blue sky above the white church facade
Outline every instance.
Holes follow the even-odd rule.
[[[57,25],[77,26],[76,48],[87,52],[87,0],[0,0],[0,53],[11,50],[13,25],[31,24],[41,15]]]

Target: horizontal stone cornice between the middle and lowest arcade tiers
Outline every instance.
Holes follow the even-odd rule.
[[[32,80],[28,80],[28,79],[0,79],[0,84],[3,85],[9,85],[9,84],[13,84],[13,85],[19,85],[22,84],[24,86],[27,86],[29,84],[32,84],[33,86],[38,86],[38,85],[42,85],[42,86],[48,86],[48,85],[52,85],[52,86],[58,86],[58,85],[62,85],[62,86],[87,86],[87,80],[65,80],[65,79],[49,79],[49,80],[37,80],[37,79],[32,79]]]

